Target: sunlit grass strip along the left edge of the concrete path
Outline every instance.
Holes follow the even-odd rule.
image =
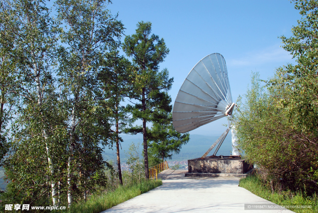
[[[119,203],[127,201],[142,193],[162,185],[162,181],[144,180],[140,184],[132,186],[120,186],[107,194],[92,195],[87,202],[74,204],[68,213],[99,213]]]

